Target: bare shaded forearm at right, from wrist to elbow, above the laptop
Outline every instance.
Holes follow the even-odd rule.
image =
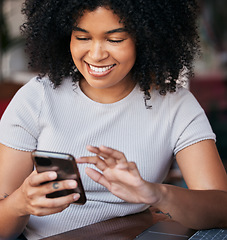
[[[160,185],[159,191],[161,198],[154,206],[173,220],[192,229],[227,227],[227,192],[169,185]]]

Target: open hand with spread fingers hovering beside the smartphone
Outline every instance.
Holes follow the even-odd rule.
[[[105,146],[87,146],[87,150],[96,156],[81,157],[77,163],[94,164],[102,172],[86,168],[87,175],[95,182],[127,202],[152,204],[157,201],[155,184],[143,180],[136,164],[128,162],[122,152]]]

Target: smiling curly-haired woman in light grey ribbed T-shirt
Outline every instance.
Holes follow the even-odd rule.
[[[0,124],[0,236],[40,239],[151,205],[191,228],[227,227],[215,135],[180,87],[197,48],[195,1],[27,0],[23,12],[40,75]],[[56,173],[33,171],[34,149],[77,158],[85,205],[46,198]],[[189,189],[161,184],[173,154]]]

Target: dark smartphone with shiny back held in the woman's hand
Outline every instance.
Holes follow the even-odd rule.
[[[57,198],[71,193],[79,193],[80,198],[74,203],[81,205],[85,204],[86,195],[80,173],[75,158],[71,154],[34,150],[32,152],[32,159],[38,173],[55,171],[57,173],[57,179],[54,181],[75,179],[78,183],[78,187],[75,189],[56,191],[47,194],[47,198]]]

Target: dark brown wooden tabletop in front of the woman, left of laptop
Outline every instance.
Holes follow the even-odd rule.
[[[158,210],[150,208],[142,213],[117,217],[82,228],[64,232],[45,240],[132,240],[148,227],[160,221],[171,221]],[[89,217],[89,216],[88,216]]]

